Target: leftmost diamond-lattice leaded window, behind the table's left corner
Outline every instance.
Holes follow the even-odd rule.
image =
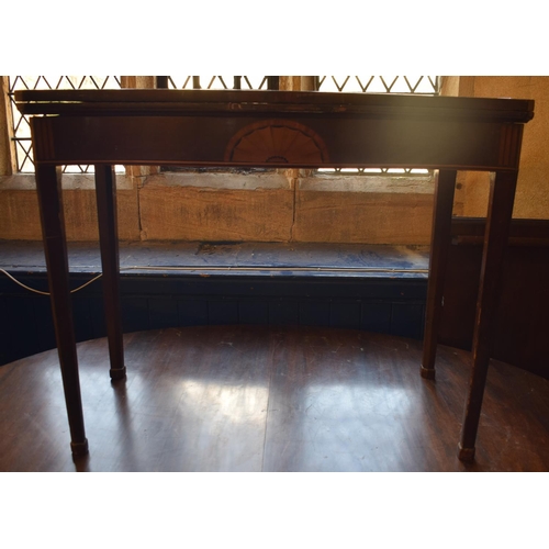
[[[10,76],[9,96],[12,111],[12,139],[15,143],[18,171],[34,172],[29,117],[20,114],[13,100],[15,90],[104,90],[121,88],[117,76]],[[120,168],[117,168],[120,170]],[[64,166],[64,172],[92,173],[93,166]]]

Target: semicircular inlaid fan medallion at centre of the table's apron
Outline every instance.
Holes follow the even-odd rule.
[[[225,149],[225,161],[321,166],[328,161],[322,137],[291,120],[266,120],[237,132]]]

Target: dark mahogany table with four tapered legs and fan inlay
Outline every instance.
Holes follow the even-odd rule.
[[[534,101],[366,93],[200,90],[16,91],[31,119],[53,317],[74,455],[88,452],[72,326],[61,165],[94,165],[111,378],[126,374],[114,165],[392,167],[436,170],[424,378],[437,334],[457,170],[492,172],[459,458],[472,460],[493,343],[524,124]]]

